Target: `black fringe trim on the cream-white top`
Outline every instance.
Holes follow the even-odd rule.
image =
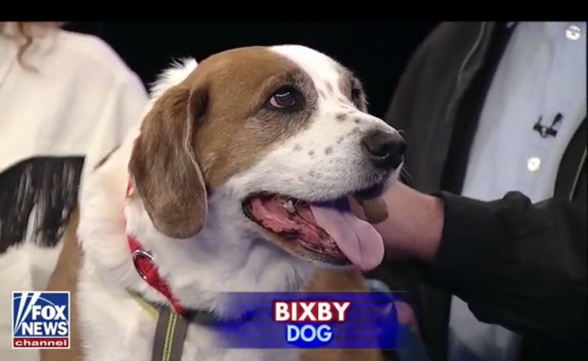
[[[83,157],[38,157],[0,173],[0,254],[25,239],[45,247],[59,242],[78,200],[82,166]]]

